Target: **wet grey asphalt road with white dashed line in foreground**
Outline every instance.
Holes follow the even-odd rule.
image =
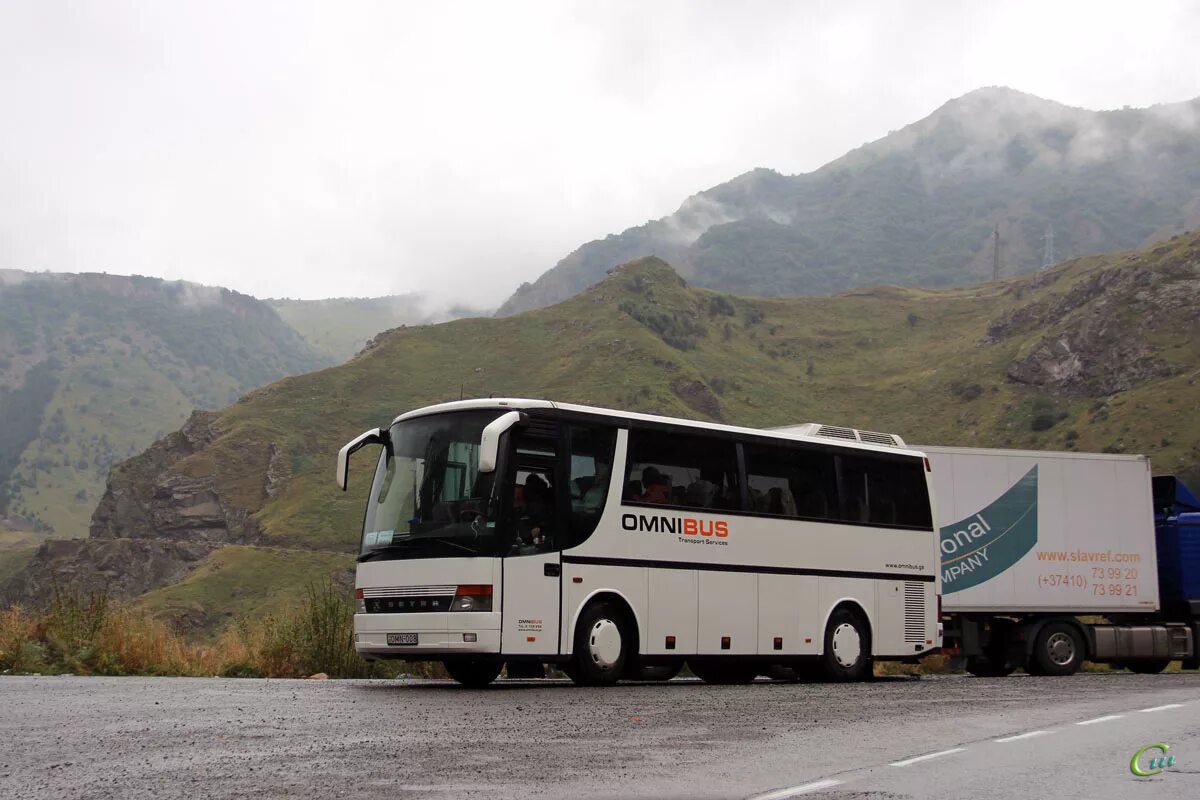
[[[1112,718],[1076,724],[1099,717]],[[1022,738],[996,741],[1009,736]],[[1129,758],[1157,741],[1171,746],[1176,768],[1135,778]],[[0,678],[5,799],[796,790],[1198,798],[1200,674],[607,690],[502,681],[485,691],[437,681]]]

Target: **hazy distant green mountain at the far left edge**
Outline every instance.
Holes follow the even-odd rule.
[[[227,289],[0,272],[0,545],[86,535],[112,464],[193,408],[329,362]]]

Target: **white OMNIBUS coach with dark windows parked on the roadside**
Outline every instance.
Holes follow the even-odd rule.
[[[468,686],[830,680],[941,646],[929,462],[889,434],[532,399],[403,414],[362,525],[354,639]]]

